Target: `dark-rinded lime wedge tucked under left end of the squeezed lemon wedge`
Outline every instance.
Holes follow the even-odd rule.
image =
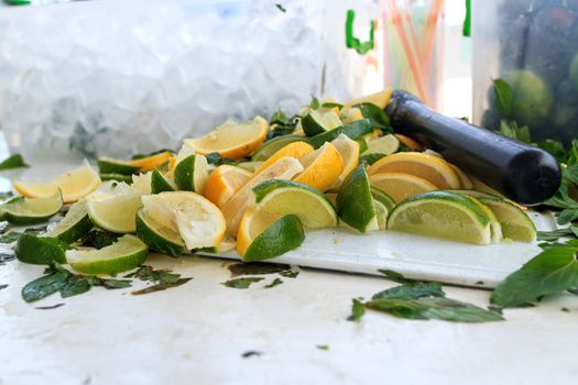
[[[185,242],[178,231],[155,221],[143,209],[137,212],[137,237],[151,248],[151,250],[171,255],[181,256]]]

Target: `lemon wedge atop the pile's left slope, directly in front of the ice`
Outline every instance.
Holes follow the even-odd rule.
[[[204,136],[185,139],[185,145],[196,154],[219,153],[222,157],[240,160],[258,148],[266,138],[269,122],[257,117],[247,123],[226,122]]]

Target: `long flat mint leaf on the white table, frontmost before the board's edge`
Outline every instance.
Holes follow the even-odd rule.
[[[384,311],[394,317],[451,322],[491,322],[503,320],[498,312],[445,297],[422,297],[418,299],[380,298],[372,299],[366,306]]]

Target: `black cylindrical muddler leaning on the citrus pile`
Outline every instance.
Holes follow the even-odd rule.
[[[394,91],[385,112],[396,132],[437,151],[514,201],[537,205],[560,186],[559,165],[547,152],[444,117],[408,92]]]

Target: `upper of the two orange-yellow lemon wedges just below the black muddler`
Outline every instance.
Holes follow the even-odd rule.
[[[396,153],[372,164],[368,174],[404,173],[423,178],[438,188],[459,188],[460,180],[449,163],[424,153]]]

